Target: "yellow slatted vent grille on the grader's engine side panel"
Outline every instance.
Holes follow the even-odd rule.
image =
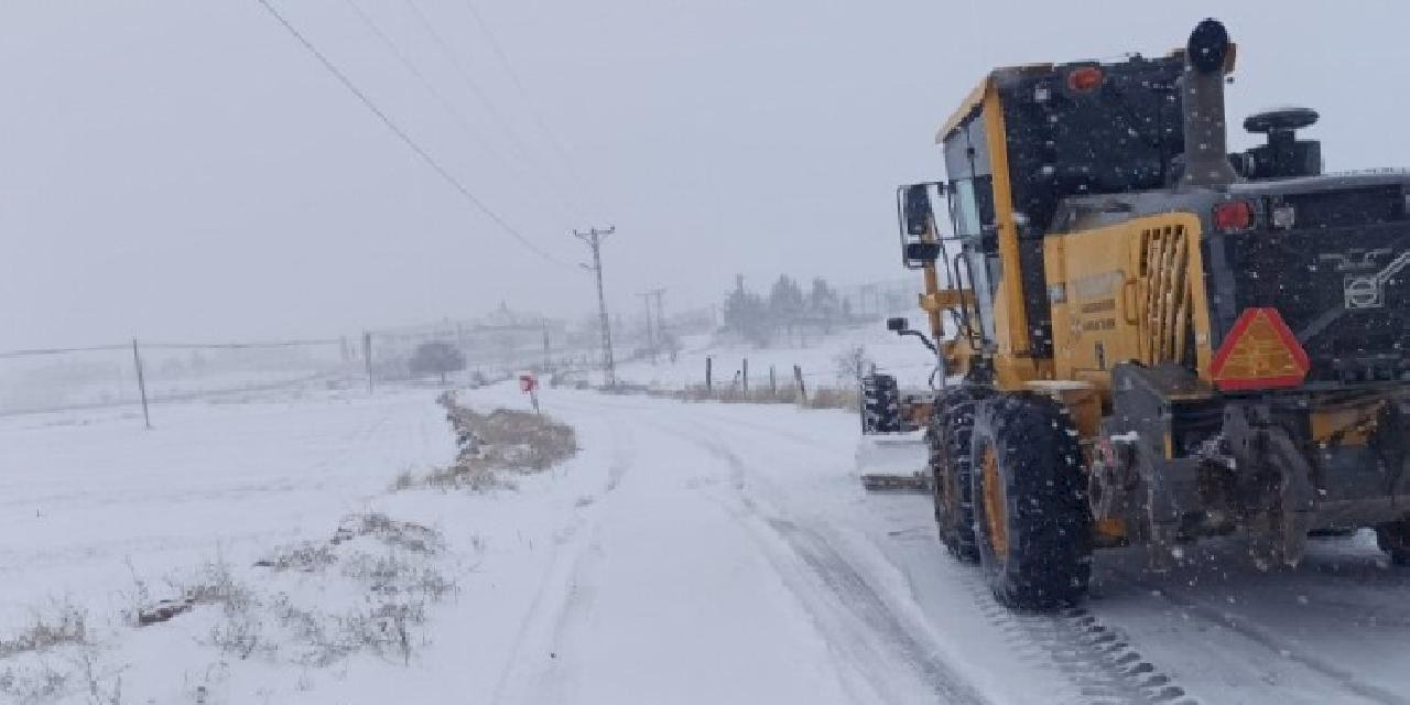
[[[1141,231],[1135,307],[1138,350],[1146,365],[1184,364],[1193,357],[1189,262],[1190,237],[1183,226]]]

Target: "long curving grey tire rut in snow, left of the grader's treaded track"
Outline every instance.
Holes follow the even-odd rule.
[[[764,510],[746,492],[746,478],[757,479],[759,474],[749,467],[728,447],[694,429],[678,429],[660,420],[650,420],[653,426],[692,443],[711,455],[725,461],[729,467],[729,484],[737,508],[730,508],[742,519],[753,519],[754,526],[767,530],[773,539],[787,547],[791,557],[802,564],[805,575],[821,584],[822,592],[832,599],[822,602],[816,589],[807,589],[798,580],[790,580],[798,574],[792,565],[783,564],[777,551],[766,550],[766,556],[774,563],[784,584],[799,598],[799,602],[812,613],[818,626],[825,632],[833,649],[852,654],[853,664],[860,660],[863,667],[871,664],[904,664],[929,689],[946,704],[986,704],[988,702],[974,687],[955,668],[940,658],[935,649],[922,643],[915,636],[907,622],[895,615],[883,598],[867,581],[867,578],[842,557],[825,537],[819,533],[797,525],[788,519],[774,516]],[[725,503],[722,501],[722,503]],[[852,618],[856,625],[839,623],[836,612],[840,611]],[[878,642],[878,643],[877,643]],[[877,674],[870,668],[862,673],[873,682],[871,687],[880,694],[888,694],[888,682],[877,682]],[[891,694],[888,699],[897,699]]]

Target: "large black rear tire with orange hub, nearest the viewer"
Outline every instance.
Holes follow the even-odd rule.
[[[1091,577],[1091,515],[1067,410],[1041,395],[987,400],[970,462],[980,563],[994,598],[1036,611],[1080,602]]]

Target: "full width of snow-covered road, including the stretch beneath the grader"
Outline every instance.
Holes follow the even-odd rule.
[[[540,668],[499,702],[1410,702],[1410,572],[1366,536],[1259,572],[1237,546],[1014,615],[933,537],[929,506],[867,495],[849,415],[560,395],[618,482],[565,557]],[[594,433],[592,429],[601,429]]]

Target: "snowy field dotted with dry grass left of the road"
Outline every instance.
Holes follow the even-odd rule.
[[[100,543],[78,544],[86,540],[80,525],[39,537],[75,541],[85,553],[69,560],[96,580],[85,585],[31,572],[27,591],[7,591],[0,599],[14,615],[0,619],[0,702],[430,704],[486,688],[505,664],[491,653],[479,658],[484,663],[474,657],[467,663],[465,654],[484,653],[486,644],[502,649],[513,640],[520,615],[530,609],[527,588],[547,570],[544,561],[551,563],[551,554],[536,547],[553,547],[572,530],[582,498],[591,492],[584,482],[595,488],[602,479],[591,472],[570,478],[567,467],[558,467],[578,448],[568,426],[520,412],[471,412],[448,395],[443,403],[454,409],[447,430],[444,420],[424,423],[424,409],[436,407],[429,395],[416,396],[419,403],[405,407],[405,392],[357,402],[376,407],[379,413],[371,416],[310,400],[307,409],[279,409],[286,423],[266,424],[252,423],[251,415],[261,406],[230,409],[212,419],[220,434],[195,423],[202,409],[192,409],[189,429],[164,434],[168,444],[180,448],[178,455],[230,451],[226,457],[235,462],[227,468],[255,455],[288,474],[271,491],[296,488],[299,494],[289,502],[303,502],[313,512],[293,525],[283,513],[264,510],[262,503],[241,505],[248,495],[220,491],[227,474],[190,475],[193,464],[185,462],[179,468],[188,475],[180,481],[192,496],[219,496],[234,505],[221,506],[217,517],[248,512],[241,522],[224,526],[212,517],[216,533],[204,548],[168,554],[138,547],[135,539],[165,536],[162,532],[179,536],[185,526],[171,525],[186,516],[179,502],[157,506],[151,494],[142,495],[144,506],[125,508],[121,519],[107,523],[107,533],[96,537],[133,547],[131,554],[118,556],[118,565],[125,565],[120,571],[107,568],[107,553],[85,547]],[[247,426],[262,433],[247,433]],[[310,439],[310,430],[317,436]],[[379,441],[389,431],[395,446],[382,447]],[[104,433],[102,424],[66,427],[63,433],[100,436],[109,441],[109,457],[145,450],[158,437]],[[224,440],[230,434],[245,443],[240,448],[220,446],[237,446]],[[513,474],[520,491],[386,492],[398,468],[427,457],[429,448],[453,447],[446,443],[453,436],[460,437],[453,467]],[[21,433],[10,437],[30,440]],[[350,453],[350,444],[357,450]],[[283,453],[268,453],[272,448]],[[62,477],[80,460],[72,451],[51,455],[54,462],[45,468],[51,475]],[[389,461],[393,455],[400,460]],[[444,461],[446,451],[439,455]],[[350,464],[369,465],[369,460],[381,465],[372,494],[371,467],[350,477],[352,482],[329,477]],[[326,479],[320,477],[305,491],[310,467]],[[145,460],[141,468],[123,475],[86,474],[83,496],[111,502],[114,496],[137,496],[117,491],[142,474],[155,475],[154,481],[179,477],[172,475],[178,468],[158,458]],[[422,472],[412,468],[407,472]],[[271,472],[271,467],[261,470]],[[245,472],[245,482],[248,477]],[[109,478],[120,484],[104,485]],[[327,512],[338,505],[341,512]],[[59,505],[49,501],[47,506]],[[34,519],[52,522],[48,510],[34,513]],[[245,526],[258,527],[258,533],[235,533]],[[0,543],[0,556],[23,556],[39,546],[34,537],[16,537],[11,546]]]

